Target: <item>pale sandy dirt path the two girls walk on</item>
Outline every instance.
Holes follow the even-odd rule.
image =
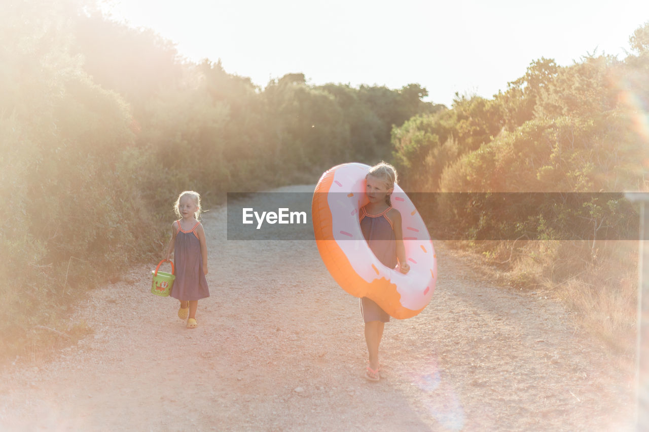
[[[632,377],[598,342],[554,300],[496,286],[441,242],[433,300],[386,324],[372,383],[358,300],[314,241],[227,241],[225,208],[203,224],[212,296],[199,328],[149,293],[151,265],[132,269],[71,317],[92,335],[1,372],[0,430],[631,429]]]

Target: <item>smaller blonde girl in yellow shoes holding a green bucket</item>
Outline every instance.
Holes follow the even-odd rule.
[[[171,258],[176,280],[171,296],[180,300],[178,318],[187,319],[187,328],[197,328],[196,309],[201,298],[210,296],[207,274],[207,245],[201,222],[201,197],[197,192],[184,191],[173,206],[178,221],[171,225],[171,241],[166,259]]]

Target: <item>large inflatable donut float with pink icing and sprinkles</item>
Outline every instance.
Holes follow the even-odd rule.
[[[391,202],[401,213],[410,272],[389,269],[374,256],[361,232],[358,215],[369,202],[365,196],[369,169],[362,163],[345,163],[322,175],[311,204],[315,243],[327,270],[345,291],[371,298],[391,317],[414,317],[435,291],[435,249],[419,212],[395,184]]]

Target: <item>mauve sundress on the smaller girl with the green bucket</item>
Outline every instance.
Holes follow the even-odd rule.
[[[202,267],[201,242],[196,234],[196,227],[190,231],[180,228],[176,231],[173,247],[173,265],[176,269],[176,280],[171,288],[171,296],[178,300],[201,300],[210,296],[205,273]]]

